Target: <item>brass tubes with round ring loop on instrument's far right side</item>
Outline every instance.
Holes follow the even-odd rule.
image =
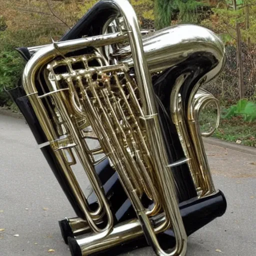
[[[170,112],[172,120],[176,125],[179,136],[181,137],[181,145],[188,160],[191,176],[193,178],[198,197],[212,194],[215,191],[211,178],[211,172],[207,161],[207,156],[203,147],[202,136],[211,135],[218,127],[220,110],[218,100],[206,90],[200,88],[193,94],[193,100],[188,105],[189,113],[183,110],[182,99],[179,94],[181,85],[185,77],[181,76],[177,79],[171,97]],[[199,113],[201,109],[210,102],[213,102],[217,109],[217,118],[214,128],[209,132],[200,132]],[[188,120],[188,125],[186,124]],[[189,134],[191,139],[189,139]]]

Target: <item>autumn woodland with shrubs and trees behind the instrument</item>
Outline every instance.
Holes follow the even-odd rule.
[[[4,88],[16,85],[23,60],[14,50],[58,40],[97,0],[0,0],[0,107],[17,111]],[[224,41],[222,74],[204,85],[218,98],[221,118],[212,136],[256,147],[256,2],[255,0],[130,0],[141,28],[193,23]],[[200,114],[202,129],[216,112]]]

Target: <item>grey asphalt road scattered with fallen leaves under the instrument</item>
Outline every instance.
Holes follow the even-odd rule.
[[[187,255],[256,255],[256,157],[205,147],[215,185],[228,207],[222,217],[189,237]],[[0,115],[0,256],[69,256],[58,227],[65,216],[75,216],[74,211],[28,126],[22,119]],[[153,253],[143,248],[123,255]]]

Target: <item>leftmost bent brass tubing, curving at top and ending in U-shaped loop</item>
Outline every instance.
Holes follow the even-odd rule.
[[[71,187],[73,189],[73,196],[76,198],[79,207],[83,213],[83,215],[79,216],[83,219],[86,219],[90,228],[95,232],[103,232],[104,235],[107,235],[113,225],[113,216],[107,200],[104,196],[104,193],[101,189],[101,184],[98,181],[98,178],[95,174],[93,168],[93,159],[91,159],[91,152],[86,144],[86,141],[83,139],[86,137],[86,131],[83,132],[82,129],[86,128],[86,120],[80,119],[76,120],[78,123],[73,122],[70,118],[71,116],[71,106],[64,104],[64,102],[68,102],[65,94],[66,89],[57,89],[54,88],[54,82],[51,80],[47,80],[46,83],[50,90],[49,93],[44,93],[43,95],[38,95],[36,88],[36,72],[41,69],[41,66],[47,63],[52,57],[64,54],[65,52],[74,50],[88,46],[88,45],[96,45],[102,41],[104,43],[111,43],[112,41],[118,40],[119,34],[109,34],[105,36],[95,36],[86,39],[78,39],[77,44],[72,46],[72,42],[63,42],[61,44],[52,44],[48,47],[43,48],[41,51],[38,51],[31,59],[28,61],[27,65],[24,68],[23,72],[23,84],[24,89],[26,90],[27,95],[29,96],[29,100],[35,109],[35,113],[37,118],[45,132],[45,135],[50,142],[51,147],[54,149],[55,156],[58,159],[59,164],[62,167],[63,173],[67,180],[69,180]],[[120,39],[125,38],[125,36],[120,35]],[[77,47],[78,46],[78,47]],[[61,52],[60,52],[61,50]],[[54,63],[52,63],[54,65]],[[52,66],[47,66],[48,69],[52,69]],[[45,74],[44,74],[45,76]],[[51,111],[53,112],[53,116],[55,116],[55,125],[57,125],[58,129],[54,128],[54,123],[48,117],[45,107],[42,104],[41,99],[46,98],[47,104],[50,106]],[[53,104],[51,102],[54,102]],[[58,119],[57,119],[58,118]],[[67,131],[70,132],[70,135],[67,134]],[[69,150],[74,148],[80,163],[84,167],[84,171],[93,187],[94,192],[98,198],[98,208],[95,211],[91,211],[88,208],[88,203],[86,198],[82,192],[81,187],[78,184],[78,181],[70,167],[72,165],[69,161],[67,161],[67,153],[65,150]],[[69,155],[71,158],[73,154],[69,151]],[[95,224],[95,220],[99,219],[102,216],[102,211],[105,211],[108,218],[108,223],[103,229],[99,229]]]

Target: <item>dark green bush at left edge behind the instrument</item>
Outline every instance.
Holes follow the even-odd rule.
[[[21,77],[23,60],[16,51],[0,52],[0,105],[9,101],[9,97],[4,88],[10,89],[16,86]]]

